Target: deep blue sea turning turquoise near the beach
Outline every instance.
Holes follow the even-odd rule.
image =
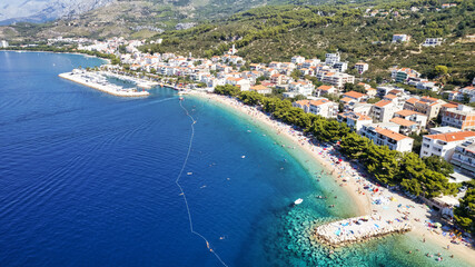
[[[311,227],[355,206],[316,180],[321,166],[206,99],[118,98],[58,77],[101,63],[0,52],[0,266],[467,266],[410,236],[329,256]]]

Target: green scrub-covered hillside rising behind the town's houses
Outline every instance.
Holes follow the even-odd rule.
[[[436,11],[438,1],[370,1],[374,9],[392,10],[376,17],[365,16],[369,2],[263,7],[158,34],[154,39],[162,38],[164,42],[146,46],[144,51],[210,57],[236,44],[238,55],[247,60],[269,62],[288,61],[295,55],[324,59],[326,52],[338,50],[349,66],[360,60],[368,62],[366,78],[388,79],[388,68],[397,65],[414,68],[428,78],[443,77],[444,82],[465,85],[475,76],[475,43],[465,39],[475,33],[475,4],[472,0],[457,2],[455,8]],[[410,11],[410,7],[420,10]],[[412,40],[392,43],[394,33],[410,34]],[[419,46],[431,37],[445,40],[439,47]]]

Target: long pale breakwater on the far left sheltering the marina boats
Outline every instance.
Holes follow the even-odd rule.
[[[138,91],[135,88],[126,89],[112,85],[101,75],[86,70],[75,69],[72,72],[61,73],[59,77],[117,97],[148,97],[150,95],[148,91]]]

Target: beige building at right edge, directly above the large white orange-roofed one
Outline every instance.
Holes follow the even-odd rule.
[[[442,126],[452,126],[462,130],[475,129],[475,110],[464,105],[445,109],[442,112]]]

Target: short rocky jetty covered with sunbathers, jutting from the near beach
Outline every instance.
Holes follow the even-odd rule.
[[[379,215],[362,216],[318,226],[315,238],[320,243],[339,247],[354,243],[367,241],[392,234],[410,231],[408,220],[382,218]]]

